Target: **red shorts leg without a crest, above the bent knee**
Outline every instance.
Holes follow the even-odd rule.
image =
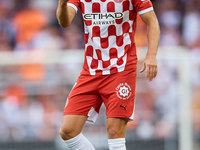
[[[92,110],[98,113],[102,104],[98,85],[99,83],[93,76],[79,76],[67,98],[63,115],[90,116]]]

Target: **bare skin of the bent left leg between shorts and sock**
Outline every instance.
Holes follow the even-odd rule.
[[[64,139],[70,139],[77,136],[87,120],[84,115],[64,115],[60,126],[60,134]]]

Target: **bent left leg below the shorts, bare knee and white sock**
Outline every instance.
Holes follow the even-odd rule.
[[[84,115],[64,115],[60,135],[71,150],[95,150],[92,144],[81,133],[87,120]]]

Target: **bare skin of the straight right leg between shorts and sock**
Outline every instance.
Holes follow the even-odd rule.
[[[128,120],[128,118],[107,118],[108,139],[124,138]]]

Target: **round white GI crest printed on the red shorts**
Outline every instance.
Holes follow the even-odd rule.
[[[120,83],[116,88],[117,96],[122,100],[127,100],[131,96],[131,87],[127,83]]]

